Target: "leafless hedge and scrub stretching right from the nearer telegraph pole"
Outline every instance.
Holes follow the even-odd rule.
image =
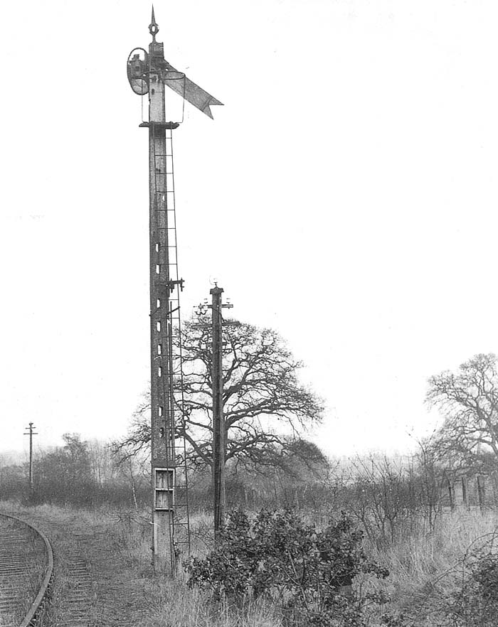
[[[456,508],[498,506],[498,468],[492,457],[482,456],[473,465],[450,463],[432,442],[420,444],[410,456],[371,454],[295,470],[267,469],[252,480],[231,474],[230,505],[250,510],[288,505],[314,518],[346,511],[380,545],[420,528],[433,531],[438,518]]]

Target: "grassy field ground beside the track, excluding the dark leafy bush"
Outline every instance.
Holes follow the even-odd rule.
[[[237,608],[214,604],[205,592],[189,589],[184,572],[174,582],[154,575],[150,523],[145,512],[75,510],[51,505],[23,508],[14,503],[0,506],[3,511],[18,513],[38,524],[58,525],[62,535],[65,532],[85,538],[82,550],[92,567],[94,590],[92,626],[122,625],[123,616],[128,625],[140,627],[281,624],[277,607],[269,601],[248,600]],[[206,552],[209,525],[204,513],[197,513],[192,520],[193,552],[197,556]],[[366,540],[367,554],[390,572],[383,580],[360,577],[355,582],[366,606],[368,624],[381,624],[381,616],[386,614],[389,618],[385,620],[391,621],[387,624],[393,626],[496,624],[482,622],[482,608],[465,600],[463,593],[470,554],[481,545],[489,550],[489,541],[497,529],[498,515],[494,512],[482,514],[479,510],[462,509],[442,513],[433,532],[420,525],[382,549]],[[487,607],[488,614],[489,611],[492,612],[491,606]],[[492,620],[491,614],[489,618]]]

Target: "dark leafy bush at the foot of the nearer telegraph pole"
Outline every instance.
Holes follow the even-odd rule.
[[[383,599],[359,598],[352,579],[388,576],[367,559],[362,539],[345,513],[317,530],[292,510],[262,510],[253,518],[235,511],[216,547],[186,564],[189,586],[239,604],[247,596],[266,596],[280,605],[287,626],[361,627],[366,602]]]

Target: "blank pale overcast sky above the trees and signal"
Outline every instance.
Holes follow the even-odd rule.
[[[496,0],[156,0],[225,103],[174,136],[184,316],[218,279],[327,402],[329,454],[405,451],[426,380],[498,351]],[[2,8],[0,449],[123,434],[149,380],[150,3]],[[23,441],[24,440],[24,441]]]

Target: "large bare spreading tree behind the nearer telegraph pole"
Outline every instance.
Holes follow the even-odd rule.
[[[258,466],[284,466],[287,455],[305,447],[294,443],[307,427],[322,419],[322,401],[302,385],[302,363],[280,335],[248,323],[223,331],[223,417],[226,460]],[[212,463],[211,339],[209,330],[184,325],[184,377],[176,377],[184,397],[184,435],[195,466]],[[121,457],[149,446],[149,401],[133,417],[126,439],[114,443]],[[180,427],[179,427],[180,429]]]

